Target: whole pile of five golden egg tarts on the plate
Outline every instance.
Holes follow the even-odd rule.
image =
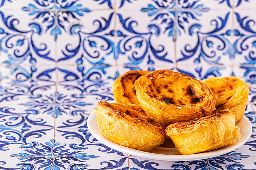
[[[211,151],[240,138],[249,86],[238,77],[199,81],[171,70],[133,70],[112,87],[116,103],[95,108],[100,132],[129,148],[150,151],[168,136],[181,154]]]

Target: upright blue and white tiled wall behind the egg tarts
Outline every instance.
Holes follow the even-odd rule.
[[[0,0],[0,75],[112,81],[172,69],[255,80],[253,0]]]

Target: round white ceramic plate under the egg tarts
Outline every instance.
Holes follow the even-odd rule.
[[[240,128],[241,133],[241,138],[239,142],[236,142],[235,138],[231,145],[228,145],[217,150],[191,155],[177,155],[178,150],[175,148],[174,144],[168,137],[166,137],[166,140],[162,145],[152,149],[149,152],[139,151],[125,146],[121,146],[105,138],[99,130],[94,111],[89,115],[87,120],[87,126],[91,134],[106,146],[117,151],[120,151],[122,153],[126,153],[128,155],[165,161],[190,161],[206,159],[231,152],[241,147],[250,138],[252,133],[252,126],[249,119],[246,116],[243,116],[243,118],[236,125]]]

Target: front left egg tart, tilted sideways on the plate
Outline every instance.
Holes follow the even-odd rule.
[[[125,105],[100,101],[95,115],[103,136],[122,146],[149,151],[164,142],[161,124]]]

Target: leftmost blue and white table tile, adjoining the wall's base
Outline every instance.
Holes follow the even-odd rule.
[[[50,93],[56,90],[54,85],[38,86],[35,82],[9,82],[7,85],[1,88],[1,127],[49,128],[54,126],[54,119],[49,114],[54,105],[53,100],[49,100]],[[44,92],[47,93],[44,95]]]

